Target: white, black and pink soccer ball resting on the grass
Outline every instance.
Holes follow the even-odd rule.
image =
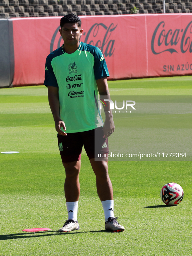
[[[182,187],[174,182],[165,184],[161,189],[161,200],[166,205],[178,205],[183,199]]]

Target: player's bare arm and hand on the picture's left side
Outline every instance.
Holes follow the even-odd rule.
[[[51,108],[51,112],[53,115],[53,119],[55,121],[55,129],[60,135],[66,136],[67,134],[61,130],[66,131],[65,123],[60,119],[59,115],[59,96],[58,96],[58,87],[54,86],[47,86],[48,88],[48,99],[49,99],[49,106]]]

